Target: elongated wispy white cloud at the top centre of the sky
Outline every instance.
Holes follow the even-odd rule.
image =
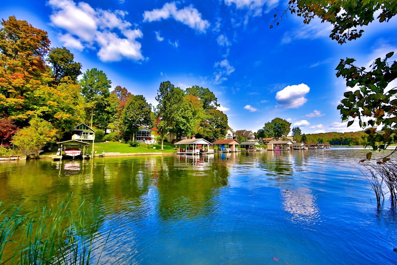
[[[152,22],[161,19],[173,18],[192,29],[205,33],[210,23],[201,18],[201,13],[192,5],[185,6],[183,9],[177,9],[175,2],[166,3],[161,9],[145,11],[143,13],[143,21]]]

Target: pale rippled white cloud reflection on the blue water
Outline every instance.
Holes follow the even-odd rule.
[[[315,224],[320,218],[315,203],[316,198],[310,193],[311,190],[308,188],[288,190],[282,193],[284,210],[292,214],[292,222],[304,221],[308,224]]]

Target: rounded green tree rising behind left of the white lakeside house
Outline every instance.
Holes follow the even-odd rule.
[[[152,105],[146,102],[143,95],[132,95],[121,115],[121,130],[135,140],[135,133],[142,126],[151,123]]]

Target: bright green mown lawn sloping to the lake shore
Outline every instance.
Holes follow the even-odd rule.
[[[156,149],[153,149],[156,147]],[[94,143],[94,151],[98,151],[97,154],[102,152],[119,152],[119,153],[153,153],[153,152],[164,152],[172,153],[176,152],[173,150],[175,146],[169,142],[164,142],[164,150],[161,150],[161,142],[159,144],[151,144],[149,148],[143,148],[141,146],[131,147],[129,144],[123,144],[121,142],[96,142]]]

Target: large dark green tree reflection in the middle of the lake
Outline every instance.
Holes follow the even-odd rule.
[[[227,186],[229,170],[225,161],[207,160],[206,156],[197,159],[175,157],[175,161],[167,161],[168,170],[159,173],[157,187],[162,218],[208,214],[216,189]]]

